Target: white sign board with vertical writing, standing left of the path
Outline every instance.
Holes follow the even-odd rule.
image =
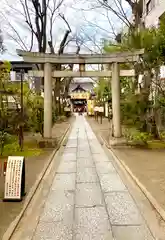
[[[25,159],[9,156],[7,161],[3,201],[21,201],[25,195]]]

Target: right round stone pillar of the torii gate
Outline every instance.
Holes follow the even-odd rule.
[[[120,117],[120,77],[119,64],[112,64],[112,113],[113,113],[113,134],[114,137],[120,138],[121,117]]]

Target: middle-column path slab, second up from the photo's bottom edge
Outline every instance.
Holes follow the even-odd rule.
[[[99,183],[77,184],[76,207],[93,207],[103,204],[103,195]]]

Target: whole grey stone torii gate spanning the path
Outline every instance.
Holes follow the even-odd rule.
[[[44,138],[52,137],[52,77],[111,77],[114,137],[120,138],[120,76],[133,77],[134,70],[120,70],[119,64],[137,62],[144,50],[113,54],[49,54],[17,50],[25,62],[44,64],[44,71],[32,71],[32,76],[44,77]],[[79,64],[79,71],[52,71],[53,64]],[[86,64],[111,65],[111,71],[86,71]]]

